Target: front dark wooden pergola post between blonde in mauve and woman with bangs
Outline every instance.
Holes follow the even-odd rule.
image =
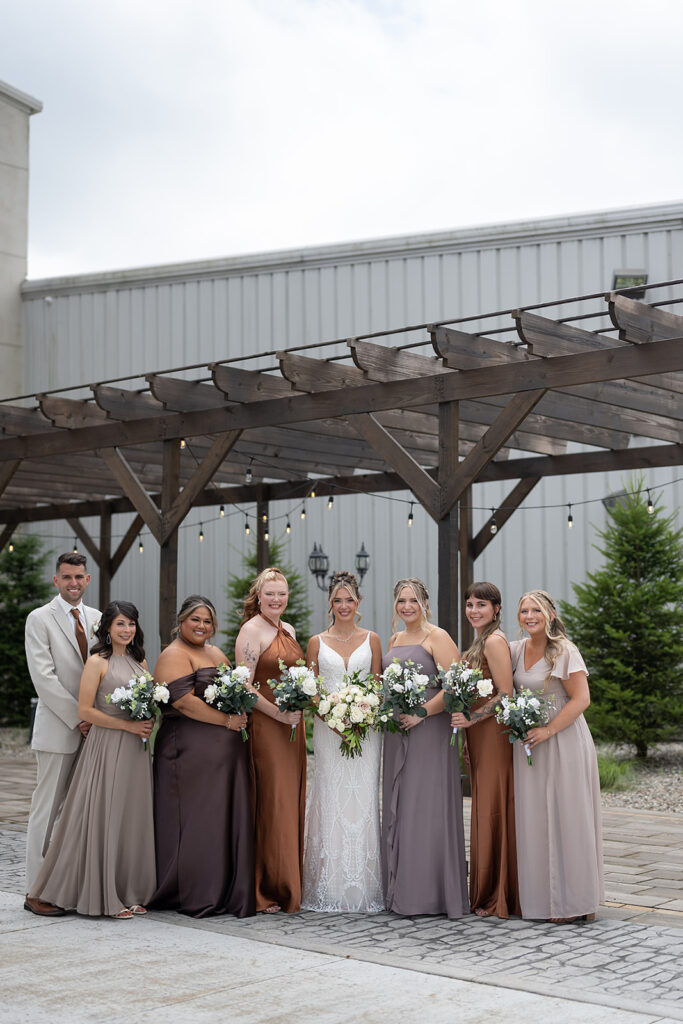
[[[438,625],[454,640],[458,636],[458,512],[443,514],[445,493],[458,468],[459,408],[457,401],[438,407],[438,486],[441,517],[438,522]]]

